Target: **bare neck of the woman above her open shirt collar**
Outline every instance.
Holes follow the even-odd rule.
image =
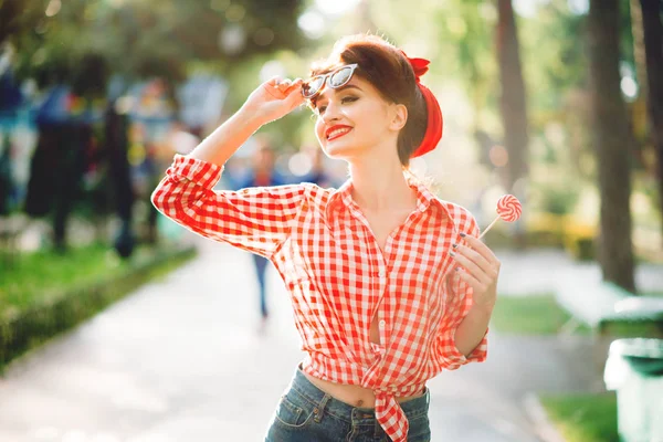
[[[364,210],[413,210],[417,204],[417,193],[408,185],[398,157],[390,161],[375,161],[368,158],[364,161],[352,161],[350,176],[352,198]]]

